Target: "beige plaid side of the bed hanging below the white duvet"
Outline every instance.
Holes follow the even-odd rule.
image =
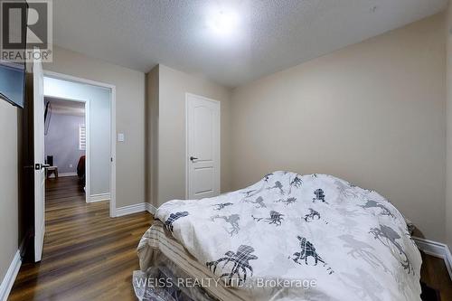
[[[138,245],[140,271],[133,285],[140,300],[248,301],[246,290],[225,287],[210,270],[193,258],[172,237],[161,221],[155,221]]]

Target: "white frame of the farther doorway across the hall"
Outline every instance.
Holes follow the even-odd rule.
[[[44,78],[46,77],[44,73]],[[86,128],[86,147],[85,147],[85,157],[86,157],[86,164],[85,164],[85,202],[90,202],[89,198],[91,196],[91,160],[90,160],[90,151],[91,151],[91,143],[90,143],[90,136],[91,136],[91,127],[90,127],[90,116],[89,116],[89,108],[90,108],[90,100],[89,99],[72,99],[72,98],[61,98],[61,97],[54,97],[52,95],[45,95],[44,94],[44,100],[48,99],[60,99],[64,101],[74,101],[74,102],[82,102],[85,104],[85,128]]]

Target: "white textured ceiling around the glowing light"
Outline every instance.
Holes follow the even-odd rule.
[[[137,71],[163,63],[236,87],[446,5],[447,0],[57,0],[54,43]],[[240,18],[239,30],[227,38],[206,24],[210,10],[225,8]]]

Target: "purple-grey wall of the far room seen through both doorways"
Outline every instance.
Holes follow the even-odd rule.
[[[53,155],[53,165],[58,166],[60,174],[77,173],[80,156],[85,155],[79,150],[79,125],[84,124],[84,117],[52,114],[45,136],[45,157]]]

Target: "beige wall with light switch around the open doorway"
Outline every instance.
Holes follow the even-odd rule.
[[[145,202],[145,74],[59,47],[43,68],[116,86],[117,208]]]

